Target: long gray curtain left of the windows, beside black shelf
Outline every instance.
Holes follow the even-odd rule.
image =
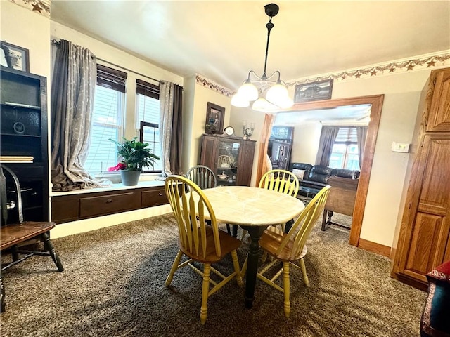
[[[61,40],[51,84],[51,183],[53,191],[96,187],[84,168],[96,88],[89,49]]]

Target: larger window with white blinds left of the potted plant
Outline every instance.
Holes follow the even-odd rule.
[[[84,164],[92,176],[117,165],[117,146],[110,138],[122,140],[126,79],[125,72],[97,65],[91,143]]]

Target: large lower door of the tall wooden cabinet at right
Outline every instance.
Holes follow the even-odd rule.
[[[426,281],[425,275],[444,262],[450,232],[450,135],[429,134],[424,137],[418,159],[423,163],[416,177],[421,190],[411,212],[409,245],[404,273]]]

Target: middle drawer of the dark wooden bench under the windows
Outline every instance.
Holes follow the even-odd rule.
[[[141,206],[139,192],[107,194],[100,197],[82,197],[79,199],[79,217],[101,216],[118,213]]]

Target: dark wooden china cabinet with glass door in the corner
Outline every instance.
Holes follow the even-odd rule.
[[[250,186],[255,143],[237,137],[203,135],[200,164],[212,169],[219,186]]]

